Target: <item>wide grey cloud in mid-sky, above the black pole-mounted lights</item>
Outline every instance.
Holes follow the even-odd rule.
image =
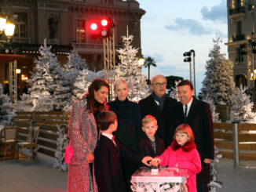
[[[203,24],[200,24],[197,20],[192,19],[182,19],[178,17],[175,20],[175,24],[171,24],[166,26],[166,29],[170,31],[181,31],[181,34],[185,34],[185,32],[189,32],[195,35],[202,34],[211,34],[212,30],[210,28],[206,28]]]

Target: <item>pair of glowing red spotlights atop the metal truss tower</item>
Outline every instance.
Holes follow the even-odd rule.
[[[90,34],[92,38],[107,38],[112,34],[112,19],[102,18],[90,22]]]

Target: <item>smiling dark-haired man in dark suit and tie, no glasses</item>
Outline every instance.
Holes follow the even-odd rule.
[[[180,102],[176,103],[170,111],[169,125],[174,129],[187,123],[195,134],[196,148],[202,161],[202,171],[197,175],[197,190],[207,191],[210,182],[210,162],[214,159],[214,131],[210,106],[201,100],[193,98],[193,85],[183,80],[177,85],[177,94]]]

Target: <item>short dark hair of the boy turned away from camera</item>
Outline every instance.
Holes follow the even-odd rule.
[[[101,131],[107,130],[116,119],[117,116],[115,112],[112,110],[104,110],[97,116],[97,127],[101,129]]]

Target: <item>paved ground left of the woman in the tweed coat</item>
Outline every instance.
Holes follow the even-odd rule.
[[[39,162],[0,161],[0,192],[65,192],[68,172],[53,168],[53,158],[39,155]]]

